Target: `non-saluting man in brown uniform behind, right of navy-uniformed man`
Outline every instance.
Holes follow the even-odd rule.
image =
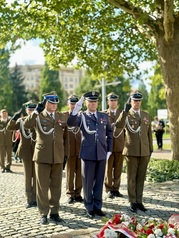
[[[121,110],[118,109],[118,96],[114,93],[107,95],[109,119],[113,128],[113,149],[112,154],[106,164],[105,173],[105,189],[108,198],[123,197],[119,192],[121,183],[121,173],[123,167],[124,148],[124,130],[114,127],[114,124],[119,117]]]

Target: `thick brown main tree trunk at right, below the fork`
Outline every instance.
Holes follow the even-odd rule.
[[[175,26],[174,40],[166,43],[164,36],[157,38],[157,50],[166,89],[170,121],[172,159],[179,160],[179,28]]]

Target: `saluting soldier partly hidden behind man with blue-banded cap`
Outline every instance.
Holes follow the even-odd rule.
[[[28,101],[23,104],[25,106],[26,114],[30,115],[36,104]],[[36,134],[34,129],[26,130],[23,126],[23,121],[27,118],[21,117],[21,110],[16,112],[11,120],[8,122],[7,129],[20,132],[20,142],[17,149],[17,156],[23,161],[24,179],[25,179],[25,194],[27,199],[26,208],[37,206],[36,202],[36,178],[34,161],[32,160],[34,154]]]

